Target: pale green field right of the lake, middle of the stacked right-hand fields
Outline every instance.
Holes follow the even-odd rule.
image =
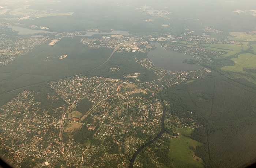
[[[227,52],[223,55],[224,57],[234,55],[242,50],[239,44],[204,44],[204,46],[210,50]]]

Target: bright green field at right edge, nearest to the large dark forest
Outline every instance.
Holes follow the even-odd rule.
[[[254,54],[240,54],[238,55],[238,58],[232,58],[236,65],[234,66],[225,66],[222,67],[222,70],[229,70],[229,71],[243,71],[243,68],[256,68],[256,55]]]

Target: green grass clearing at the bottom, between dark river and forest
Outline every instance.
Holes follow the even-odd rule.
[[[204,167],[203,160],[195,156],[192,148],[202,145],[200,142],[192,140],[185,135],[189,135],[192,129],[176,128],[176,132],[181,133],[177,138],[170,142],[169,159],[172,160],[175,167]],[[182,135],[184,134],[184,135]],[[190,147],[191,146],[191,147]]]

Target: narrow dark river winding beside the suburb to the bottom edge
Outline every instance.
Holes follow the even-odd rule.
[[[155,140],[157,140],[158,138],[160,138],[162,136],[162,134],[165,132],[165,113],[166,113],[166,108],[165,108],[165,103],[163,102],[163,99],[162,99],[162,93],[159,93],[159,96],[161,97],[161,104],[163,106],[163,115],[162,115],[162,118],[161,118],[161,130],[159,132],[159,134],[151,141],[147,142],[146,144],[144,144],[143,146],[141,146],[139,149],[137,149],[135,151],[135,153],[132,155],[132,159],[130,160],[130,166],[129,168],[133,168],[133,164],[134,164],[134,161],[137,157],[137,155],[140,153],[140,151],[142,151],[143,148],[145,148],[146,146],[149,146],[151,145]]]

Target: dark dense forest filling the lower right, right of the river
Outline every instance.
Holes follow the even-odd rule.
[[[241,167],[255,161],[256,90],[237,81],[213,71],[163,91],[172,113],[186,117],[189,110],[202,123],[191,138],[203,143],[196,155],[207,167]]]

